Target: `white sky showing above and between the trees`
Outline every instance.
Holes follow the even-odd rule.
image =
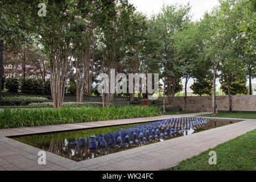
[[[133,4],[138,11],[141,11],[142,13],[146,14],[148,18],[152,14],[157,14],[160,12],[161,7],[163,5],[174,5],[182,4],[187,5],[189,4],[192,6],[191,8],[191,15],[192,20],[200,20],[200,18],[203,18],[203,15],[206,11],[210,12],[214,6],[219,5],[218,0],[128,0],[129,3]],[[217,89],[220,88],[220,82],[218,79],[216,80]],[[182,80],[183,85],[185,84],[185,80]],[[256,84],[256,78],[252,80],[253,84]],[[190,79],[188,81],[188,87],[193,84],[193,80]],[[247,85],[249,85],[249,81],[247,81]]]

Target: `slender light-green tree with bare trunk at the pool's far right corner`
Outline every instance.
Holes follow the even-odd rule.
[[[220,15],[219,7],[214,7],[212,12],[206,13],[204,19],[199,25],[201,40],[199,40],[199,49],[201,52],[201,60],[208,62],[213,74],[212,85],[212,115],[216,116],[216,77],[222,54],[225,52],[226,43],[230,40],[224,34],[225,22],[222,20],[224,16]]]

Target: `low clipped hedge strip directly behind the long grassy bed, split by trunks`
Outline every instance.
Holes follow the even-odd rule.
[[[111,104],[112,106],[113,104]],[[28,106],[32,107],[53,107],[53,102],[42,102],[42,103],[31,103]],[[81,106],[92,106],[101,107],[101,102],[63,102],[63,107],[81,107]]]

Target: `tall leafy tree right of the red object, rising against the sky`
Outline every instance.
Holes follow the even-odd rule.
[[[175,86],[183,76],[184,69],[181,61],[177,61],[177,53],[174,47],[174,34],[183,30],[183,25],[190,21],[187,6],[163,6],[159,14],[153,15],[150,20],[150,31],[153,31],[152,42],[158,45],[154,59],[158,59],[162,67],[164,85],[167,85],[168,104],[172,105],[175,96]],[[164,86],[164,89],[166,87]],[[165,103],[164,103],[165,104]]]

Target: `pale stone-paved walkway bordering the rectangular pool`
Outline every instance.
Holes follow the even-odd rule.
[[[186,114],[186,116],[197,114]],[[159,117],[160,119],[153,117],[153,120],[181,116],[184,115],[164,115]],[[133,123],[131,121],[133,119],[126,119],[126,121],[127,120]],[[141,119],[136,118],[134,121],[135,120]],[[230,119],[226,119],[226,121],[229,122]],[[66,130],[64,125],[63,127]],[[92,125],[88,125],[88,127],[92,127]],[[84,160],[82,162],[75,162],[46,152],[46,165],[38,164],[39,156],[37,155],[40,151],[39,148],[28,146],[27,144],[7,137],[0,137],[0,170],[159,170],[168,168],[181,160],[191,158],[209,148],[213,148],[220,143],[236,138],[254,129],[256,129],[256,119],[245,119],[245,121],[232,125],[217,127],[184,137],[164,140],[163,142],[132,148],[130,150]],[[20,131],[24,132],[24,130]],[[7,135],[9,134],[10,133],[7,132]]]

